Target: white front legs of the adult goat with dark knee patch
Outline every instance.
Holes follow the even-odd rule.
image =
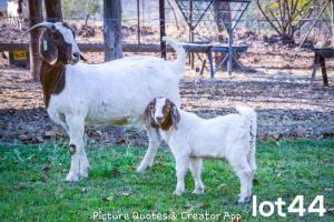
[[[76,182],[79,178],[88,176],[89,162],[84,148],[85,121],[79,117],[67,117],[69,127],[69,150],[71,153],[71,167],[66,181]]]

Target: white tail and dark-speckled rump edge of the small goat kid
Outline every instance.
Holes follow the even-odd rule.
[[[250,145],[250,155],[255,155],[256,147],[256,127],[257,127],[257,117],[256,112],[248,107],[236,107],[236,110],[240,115],[244,117],[244,125],[247,133],[249,133],[249,145]]]

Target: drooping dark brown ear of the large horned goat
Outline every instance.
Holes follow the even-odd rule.
[[[39,42],[39,51],[42,59],[49,64],[55,64],[58,59],[58,48],[53,39],[49,34],[49,30],[45,31]]]

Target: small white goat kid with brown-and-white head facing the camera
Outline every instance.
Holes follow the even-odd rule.
[[[159,125],[176,161],[176,195],[185,192],[185,174],[190,169],[195,181],[193,193],[204,192],[200,179],[203,159],[227,159],[240,180],[239,203],[249,201],[256,170],[256,113],[237,107],[237,114],[204,120],[178,109],[166,98],[154,99],[145,109],[146,124]]]

